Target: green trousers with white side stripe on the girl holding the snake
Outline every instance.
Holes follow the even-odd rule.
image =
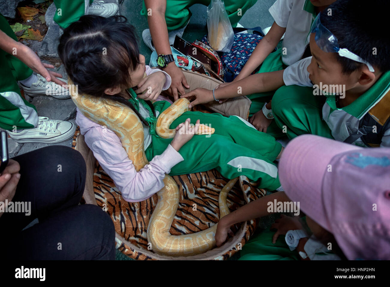
[[[163,111],[170,104],[160,101],[155,104],[156,110]],[[184,161],[171,169],[170,175],[183,175],[216,168],[222,176],[232,179],[246,175],[250,180],[260,180],[259,187],[275,190],[280,187],[277,167],[273,163],[282,146],[275,138],[257,131],[248,123],[237,117],[229,118],[221,114],[202,112],[185,112],[177,118],[170,128],[175,128],[187,118],[191,123],[200,119],[200,123],[215,128],[213,135],[194,135],[180,149]],[[152,148],[146,156],[151,160],[167,148],[172,139],[152,136]]]

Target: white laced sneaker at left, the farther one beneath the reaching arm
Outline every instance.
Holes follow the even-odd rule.
[[[43,76],[37,74],[37,82],[32,83],[31,87],[26,87],[23,84],[19,83],[19,87],[23,89],[25,94],[30,97],[35,96],[52,96],[53,98],[64,100],[69,99],[69,91],[53,82],[48,82]],[[67,79],[60,78],[60,80],[68,83]]]

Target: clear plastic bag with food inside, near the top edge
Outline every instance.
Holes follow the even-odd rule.
[[[211,0],[207,7],[207,39],[216,51],[229,52],[234,41],[234,33],[222,0]]]

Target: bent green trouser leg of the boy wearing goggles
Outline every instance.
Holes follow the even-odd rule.
[[[333,139],[322,118],[324,96],[313,95],[312,87],[282,86],[272,98],[274,121],[293,139],[302,134],[315,134]]]

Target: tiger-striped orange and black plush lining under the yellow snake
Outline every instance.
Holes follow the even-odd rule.
[[[76,147],[80,129],[73,137]],[[88,175],[87,175],[88,176]],[[170,228],[172,235],[198,232],[215,225],[219,221],[218,195],[229,181],[216,169],[206,172],[172,176],[181,192],[179,208]],[[242,248],[253,234],[257,220],[238,224],[232,228],[235,236],[220,248],[191,257],[165,257],[148,249],[147,226],[157,203],[157,195],[140,202],[128,202],[103,171],[96,160],[93,174],[94,196],[97,205],[111,216],[116,230],[116,247],[123,254],[137,260],[152,259],[214,259],[225,260]],[[241,185],[241,186],[240,186]],[[244,193],[243,193],[244,190]],[[230,211],[264,196],[265,191],[252,186],[247,180],[240,180],[229,192],[227,203]],[[196,207],[196,208],[195,208]]]

